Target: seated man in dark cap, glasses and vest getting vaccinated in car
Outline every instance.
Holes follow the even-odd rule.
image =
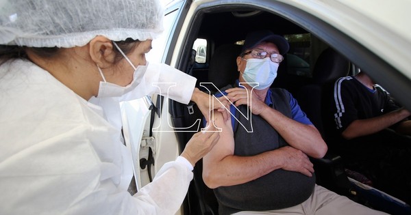
[[[222,133],[203,158],[220,214],[384,214],[315,184],[308,157],[322,158],[327,145],[291,94],[270,88],[288,48],[271,31],[249,33],[235,88],[223,91],[235,119],[214,115]]]

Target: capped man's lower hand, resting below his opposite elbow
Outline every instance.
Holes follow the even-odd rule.
[[[314,165],[310,162],[310,158],[301,150],[290,146],[281,147],[276,150],[281,150],[283,154],[283,167],[287,171],[295,171],[312,177],[314,173]]]

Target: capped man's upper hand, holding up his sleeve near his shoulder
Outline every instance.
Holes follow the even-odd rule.
[[[264,100],[258,99],[255,91],[236,87],[227,89],[225,92],[227,92],[227,98],[233,102],[235,106],[247,104],[251,108],[251,113],[255,115],[260,115],[262,111],[269,107],[264,103]]]

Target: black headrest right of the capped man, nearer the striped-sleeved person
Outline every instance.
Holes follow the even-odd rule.
[[[327,48],[316,60],[312,72],[314,83],[328,83],[349,74],[349,60],[332,48]]]

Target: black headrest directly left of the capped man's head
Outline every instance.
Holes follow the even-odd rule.
[[[233,84],[238,79],[236,59],[241,53],[242,46],[236,44],[223,44],[216,48],[210,61],[208,81],[217,88]]]

